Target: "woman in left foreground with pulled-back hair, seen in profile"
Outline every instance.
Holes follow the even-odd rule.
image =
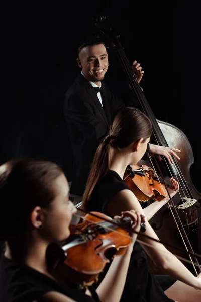
[[[64,285],[46,259],[51,243],[69,237],[76,211],[69,200],[68,182],[56,164],[19,159],[0,166],[0,241],[5,242],[0,257],[0,302],[94,301],[90,292]],[[129,216],[132,229],[139,232],[138,213],[126,211],[121,216]],[[125,255],[115,257],[96,289],[102,302],[121,298],[137,235],[131,236]]]

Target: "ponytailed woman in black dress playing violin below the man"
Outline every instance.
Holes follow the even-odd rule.
[[[108,135],[95,153],[82,208],[111,217],[120,215],[122,211],[138,211],[146,219],[144,234],[159,240],[148,220],[168,199],[155,201],[142,209],[136,196],[123,181],[127,166],[135,165],[142,159],[151,135],[151,122],[138,109],[127,107],[117,114]],[[174,179],[170,181],[168,191],[173,197],[179,184]],[[162,244],[141,235],[138,238],[144,244],[136,242],[134,245],[121,302],[200,301],[200,275],[193,276]],[[165,275],[152,273],[145,252]]]

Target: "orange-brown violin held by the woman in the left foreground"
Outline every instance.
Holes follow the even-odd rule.
[[[112,219],[103,213],[91,212],[83,219],[70,225],[71,236],[60,248],[54,271],[62,280],[86,287],[98,280],[98,275],[115,255],[125,253],[131,243],[129,230],[132,232],[132,229],[130,217]],[[140,231],[145,230],[141,215]]]

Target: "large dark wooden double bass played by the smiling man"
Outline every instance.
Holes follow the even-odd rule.
[[[156,162],[156,169],[162,174],[164,181],[168,182],[169,177],[174,178],[179,182],[180,190],[174,196],[173,202],[164,206],[160,214],[155,215],[150,223],[159,238],[166,238],[175,247],[185,247],[191,251],[194,248],[196,252],[201,252],[201,225],[199,223],[201,194],[196,190],[190,178],[189,170],[194,162],[191,145],[180,129],[155,118],[126,57],[119,36],[114,35],[111,28],[106,26],[106,17],[96,19],[95,27],[98,36],[101,36],[117,54],[141,111],[151,120],[154,142],[160,146],[181,150],[180,160],[174,158],[174,164],[169,164],[165,158],[162,162]],[[135,107],[135,104],[133,106]],[[143,164],[150,166],[150,162]],[[173,249],[170,251],[174,253]]]

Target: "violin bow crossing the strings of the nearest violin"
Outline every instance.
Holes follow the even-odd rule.
[[[91,213],[90,213],[91,214]],[[90,223],[92,223],[92,224],[95,224],[95,225],[98,225],[98,222],[95,222],[95,221],[93,221],[93,220],[90,220],[89,218],[86,218],[86,217],[83,217],[83,216],[80,216],[80,215],[77,215],[77,214],[74,214],[74,216],[76,216],[76,217],[79,217],[79,218],[82,218],[82,219],[84,219],[84,220],[86,220],[86,221],[88,221],[88,222],[90,222]],[[103,219],[103,217],[99,217],[100,219]],[[104,219],[105,221],[107,221],[107,222],[111,222],[112,223],[112,221],[110,221],[110,220],[106,220],[106,219]],[[113,223],[112,223],[113,224]],[[116,224],[116,223],[114,223],[116,226],[119,226],[118,224]],[[119,226],[120,228],[122,228],[122,229],[125,229],[125,228],[123,228],[122,226]],[[114,233],[116,233],[116,234],[118,234],[118,235],[121,235],[121,236],[124,236],[124,237],[127,237],[127,238],[129,238],[129,239],[131,239],[131,241],[133,241],[133,238],[130,236],[130,235],[126,235],[126,234],[122,234],[121,232],[118,232],[117,230],[114,230],[114,229],[112,229],[112,228],[110,228],[109,226],[104,226],[103,227],[104,229],[107,229],[107,230],[109,230],[109,231],[112,231],[112,232],[114,232]],[[153,241],[156,241],[156,242],[158,242],[158,243],[160,243],[160,244],[164,244],[164,243],[162,243],[161,241],[159,241],[159,240],[157,240],[157,239],[155,239],[155,238],[151,238],[150,236],[147,236],[147,235],[145,235],[145,234],[142,234],[142,233],[140,233],[140,232],[136,232],[135,230],[132,230],[134,233],[136,233],[137,235],[143,235],[144,237],[147,237],[148,239],[151,239],[151,240],[153,240]],[[140,239],[136,239],[136,241],[137,242],[139,242],[140,244],[144,244],[144,245],[146,245],[146,246],[149,246],[149,247],[151,247],[152,249],[156,249],[157,251],[161,251],[161,253],[163,253],[164,255],[165,254],[167,254],[169,251],[164,251],[164,250],[162,250],[162,249],[160,249],[160,248],[158,248],[158,247],[154,247],[152,244],[150,244],[150,243],[148,243],[148,242],[146,242],[146,241],[142,241],[142,240],[140,240]],[[165,245],[169,245],[169,244],[166,244],[165,243]],[[171,245],[169,245],[169,246],[171,246]],[[172,247],[172,246],[171,246]],[[187,263],[190,263],[190,264],[192,264],[193,266],[197,266],[197,267],[200,267],[197,263],[195,263],[195,262],[193,262],[193,261],[190,261],[190,260],[188,260],[188,259],[186,259],[186,258],[183,258],[183,257],[181,257],[181,256],[179,256],[179,255],[177,255],[177,254],[174,254],[174,253],[172,253],[175,257],[177,257],[177,258],[179,258],[179,259],[181,259],[181,260],[183,260],[184,262],[187,262]],[[196,256],[197,257],[200,257],[201,258],[201,255],[198,255],[198,254],[196,254]],[[195,269],[195,271],[196,271],[196,269]]]

